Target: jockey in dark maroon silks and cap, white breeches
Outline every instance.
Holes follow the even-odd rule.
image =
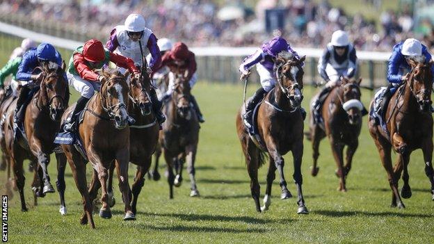
[[[156,67],[155,70],[160,70],[163,66],[167,66],[170,70],[169,86],[166,94],[163,96],[163,100],[167,99],[172,94],[175,86],[175,74],[182,74],[184,80],[188,81],[190,88],[193,88],[196,81],[198,81],[198,76],[196,75],[197,64],[195,54],[188,50],[188,47],[183,42],[176,42],[172,49],[163,55],[161,65]],[[198,115],[199,122],[205,122],[204,117],[200,112],[198,102],[193,95],[191,95],[191,103]]]

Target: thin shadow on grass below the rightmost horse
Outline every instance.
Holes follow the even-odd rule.
[[[350,217],[355,215],[368,216],[368,217],[403,217],[403,218],[433,218],[434,215],[422,213],[397,213],[391,211],[385,212],[362,212],[362,211],[330,211],[330,210],[316,210],[315,214],[325,215],[329,217]]]

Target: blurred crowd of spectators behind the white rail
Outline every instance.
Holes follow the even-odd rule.
[[[83,32],[98,33],[97,37],[108,37],[129,13],[141,13],[148,28],[159,38],[182,40],[195,47],[236,47],[257,46],[271,38],[264,27],[265,10],[280,8],[286,16],[281,31],[294,47],[324,47],[337,29],[348,31],[359,50],[390,51],[396,42],[410,36],[434,47],[431,21],[424,20],[421,31],[415,35],[415,21],[406,6],[399,13],[379,13],[380,24],[376,24],[360,14],[347,15],[326,0],[259,0],[254,9],[244,6],[243,1],[226,3],[232,5],[232,12],[223,9],[227,8],[224,1],[223,7],[219,7],[211,0],[3,0],[0,13],[22,15],[36,22],[51,19],[74,24]],[[364,3],[378,8],[380,0]],[[242,15],[234,14],[234,9],[242,10]]]

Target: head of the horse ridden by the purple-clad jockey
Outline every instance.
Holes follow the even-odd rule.
[[[277,79],[277,89],[283,93],[291,107],[297,108],[303,101],[303,67],[302,63],[306,56],[297,59],[293,54],[282,51],[275,60],[275,74]]]

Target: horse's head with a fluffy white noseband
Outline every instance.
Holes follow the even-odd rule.
[[[348,115],[348,122],[350,122],[350,124],[359,124],[362,122],[363,104],[360,101],[360,97],[362,96],[360,92],[360,82],[362,82],[362,79],[341,78],[341,103]]]

